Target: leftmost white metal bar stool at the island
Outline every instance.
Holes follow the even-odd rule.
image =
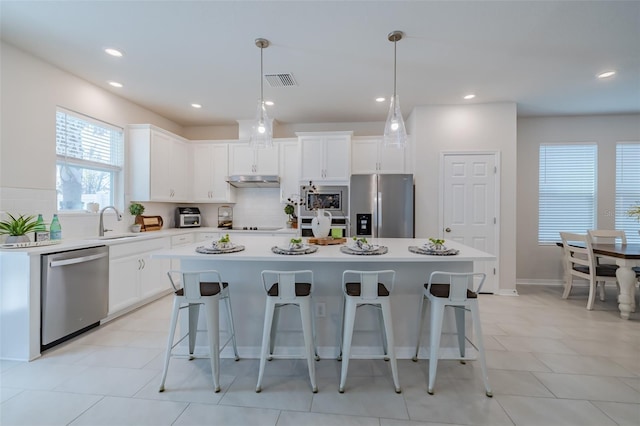
[[[167,351],[164,359],[164,369],[162,371],[162,381],[160,382],[159,392],[164,392],[164,384],[167,379],[169,370],[169,360],[171,357],[187,356],[189,360],[198,358],[194,355],[196,345],[196,335],[199,330],[198,315],[200,313],[200,305],[204,305],[204,312],[207,323],[207,337],[209,339],[209,354],[211,359],[211,374],[213,375],[213,388],[216,392],[220,392],[220,351],[231,341],[233,343],[233,352],[236,361],[240,359],[238,356],[238,348],[236,345],[236,332],[233,327],[233,315],[231,313],[231,300],[229,296],[229,284],[222,281],[220,273],[215,270],[207,271],[176,271],[167,272],[169,281],[174,290],[173,311],[171,313],[171,323],[169,325],[169,338],[167,341]],[[219,303],[224,301],[226,304],[227,323],[229,326],[229,339],[220,347],[220,330],[219,330]],[[180,309],[188,308],[189,310],[189,330],[187,334],[178,339],[174,343],[176,326],[178,324],[178,316]],[[179,355],[173,353],[175,348],[185,338],[189,337],[189,355]]]

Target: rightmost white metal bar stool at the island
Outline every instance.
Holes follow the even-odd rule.
[[[429,346],[429,385],[427,392],[433,395],[433,387],[436,382],[436,370],[438,368],[438,352],[440,350],[440,336],[442,334],[442,320],[444,317],[444,308],[451,306],[455,309],[456,330],[458,334],[458,345],[460,357],[465,356],[465,312],[471,311],[471,319],[473,321],[474,333],[476,335],[478,346],[478,357],[480,358],[480,367],[482,368],[482,379],[488,397],[492,397],[491,387],[489,386],[489,376],[487,375],[487,364],[484,356],[484,342],[482,339],[482,329],[480,326],[480,311],[478,310],[478,293],[484,284],[486,275],[483,273],[453,273],[453,272],[432,272],[429,276],[429,282],[424,285],[423,297],[420,300],[420,318],[418,322],[418,338],[416,342],[416,354],[413,361],[418,361],[418,351],[420,349],[420,337],[422,335],[422,325],[427,310],[425,300],[431,303],[431,332]],[[473,283],[476,279],[480,279],[480,285],[477,292],[473,292]],[[434,281],[445,281],[445,284],[436,284]],[[473,343],[469,340],[473,345]],[[464,364],[464,361],[461,361]]]

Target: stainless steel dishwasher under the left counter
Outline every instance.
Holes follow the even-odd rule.
[[[42,255],[40,347],[100,325],[109,308],[109,248]]]

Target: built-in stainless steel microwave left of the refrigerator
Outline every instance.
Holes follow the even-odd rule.
[[[334,217],[349,217],[348,186],[302,186],[300,194],[300,215],[303,217],[315,216],[318,209],[324,209]]]

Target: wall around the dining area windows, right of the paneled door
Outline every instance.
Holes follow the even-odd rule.
[[[640,141],[640,114],[518,119],[518,282],[560,283],[563,279],[560,248],[538,245],[540,144],[598,144],[597,226],[614,229],[615,145],[620,141]]]

